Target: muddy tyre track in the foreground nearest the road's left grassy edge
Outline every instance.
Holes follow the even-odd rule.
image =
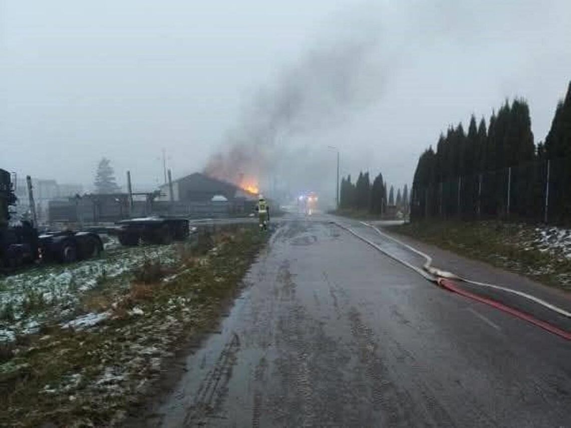
[[[214,416],[227,393],[227,385],[232,377],[232,368],[239,350],[240,338],[233,333],[222,348],[218,360],[200,382],[194,402],[184,418],[184,427],[201,425]]]

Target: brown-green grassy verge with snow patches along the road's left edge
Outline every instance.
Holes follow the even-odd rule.
[[[102,282],[82,296],[106,314],[96,322],[45,324],[3,344],[0,426],[126,426],[216,328],[268,235],[218,227],[198,247],[179,244],[168,265],[144,260],[128,287]]]

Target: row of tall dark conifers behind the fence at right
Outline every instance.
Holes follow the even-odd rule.
[[[537,146],[525,100],[506,100],[487,128],[483,117],[476,123],[471,116],[467,133],[462,124],[449,127],[436,152],[429,148],[420,156],[411,218],[456,214],[459,203],[463,215],[542,218],[549,161],[548,218],[571,221],[571,83],[545,142]],[[404,191],[402,196],[405,203]],[[390,195],[388,203],[394,203]]]

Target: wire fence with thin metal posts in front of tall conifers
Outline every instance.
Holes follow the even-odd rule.
[[[571,159],[509,168],[423,185],[413,183],[411,218],[518,219],[571,222]]]

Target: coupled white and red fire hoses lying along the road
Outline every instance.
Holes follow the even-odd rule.
[[[489,287],[489,288],[494,288],[496,290],[502,290],[505,292],[509,292],[509,293],[524,297],[525,299],[529,299],[529,300],[533,301],[534,303],[540,304],[541,306],[543,306],[547,309],[550,309],[554,312],[557,312],[558,314],[560,314],[562,316],[565,316],[568,318],[571,317],[571,313],[569,313],[568,311],[565,311],[565,309],[559,308],[553,304],[546,302],[545,300],[539,299],[536,296],[532,296],[530,294],[526,294],[526,293],[521,292],[521,291],[512,290],[511,288],[507,288],[507,287],[496,286],[494,284],[486,284],[486,283],[481,283],[481,282],[469,280],[466,278],[461,278],[460,276],[453,274],[452,272],[447,272],[447,271],[443,271],[443,270],[440,270],[438,268],[432,267],[431,266],[432,265],[431,256],[429,256],[428,254],[424,254],[424,252],[421,252],[421,251],[417,250],[416,248],[411,247],[408,244],[401,242],[398,239],[393,238],[393,237],[381,232],[376,226],[370,225],[369,223],[361,222],[361,224],[363,224],[364,226],[372,227],[372,229],[374,229],[381,236],[386,237],[388,239],[391,239],[392,241],[400,244],[401,246],[408,248],[408,250],[415,252],[415,254],[418,254],[421,257],[423,257],[425,259],[425,263],[423,265],[423,268],[420,269],[419,267],[416,267],[413,264],[408,263],[407,261],[398,258],[397,256],[395,256],[395,255],[391,254],[390,252],[384,250],[384,248],[381,248],[378,244],[371,241],[370,239],[367,239],[367,238],[357,234],[350,227],[347,227],[347,226],[345,226],[339,222],[332,222],[332,223],[341,227],[341,229],[348,231],[349,233],[351,233],[356,238],[359,238],[361,241],[369,244],[370,246],[375,248],[377,251],[382,252],[383,254],[389,256],[393,260],[396,260],[397,262],[403,264],[404,266],[412,269],[417,274],[423,276],[423,278],[429,280],[432,283],[438,284],[440,287],[443,287],[448,291],[455,292],[456,294],[459,294],[459,295],[468,297],[470,299],[479,301],[480,303],[488,304],[488,305],[490,305],[496,309],[499,309],[500,311],[509,313],[510,315],[513,315],[513,316],[515,316],[521,320],[528,321],[529,323],[534,324],[537,327],[541,327],[541,328],[545,329],[546,331],[553,333],[554,335],[562,337],[563,339],[571,340],[571,333],[570,332],[564,331],[558,327],[555,327],[552,324],[546,323],[545,321],[538,320],[537,318],[529,315],[528,313],[518,311],[518,309],[514,309],[512,307],[506,306],[506,305],[504,305],[504,304],[502,304],[496,300],[489,299],[488,297],[482,297],[482,296],[479,296],[479,295],[474,294],[472,292],[469,292],[467,290],[463,290],[463,288],[458,287],[452,280],[460,280],[460,281],[467,282],[470,284],[475,284],[477,286]]]

